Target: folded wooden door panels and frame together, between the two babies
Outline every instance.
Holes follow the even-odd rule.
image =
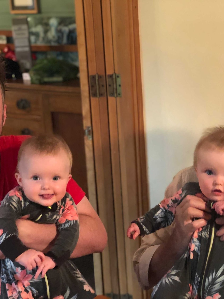
[[[122,87],[121,97],[109,96],[108,90],[100,97],[88,97],[86,88],[82,102],[83,112],[91,111],[96,203],[108,232],[102,276],[100,271],[95,276],[96,291],[111,298],[146,298],[132,266],[140,238],[138,242],[126,237],[131,220],[148,210],[137,0],[75,0],[75,4],[77,28],[77,8],[85,23],[82,44],[87,64],[82,68],[80,63],[80,74],[85,73],[85,82],[88,75],[105,76],[107,81],[108,75],[119,74]],[[80,54],[79,48],[79,59]]]

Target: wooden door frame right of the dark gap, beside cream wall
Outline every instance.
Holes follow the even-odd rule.
[[[137,0],[102,1],[106,73],[120,76],[121,97],[108,97],[114,207],[121,294],[143,298],[133,271],[140,245],[126,237],[148,209]]]

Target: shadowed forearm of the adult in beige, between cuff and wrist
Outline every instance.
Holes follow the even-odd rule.
[[[175,233],[173,233],[157,248],[148,268],[149,288],[155,286],[184,254],[188,248],[189,241],[182,240],[182,242],[178,242]]]

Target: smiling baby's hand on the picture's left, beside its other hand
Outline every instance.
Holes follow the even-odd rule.
[[[40,266],[45,260],[45,255],[41,251],[36,251],[34,249],[28,249],[20,254],[15,261],[27,270],[32,270],[36,266]]]

